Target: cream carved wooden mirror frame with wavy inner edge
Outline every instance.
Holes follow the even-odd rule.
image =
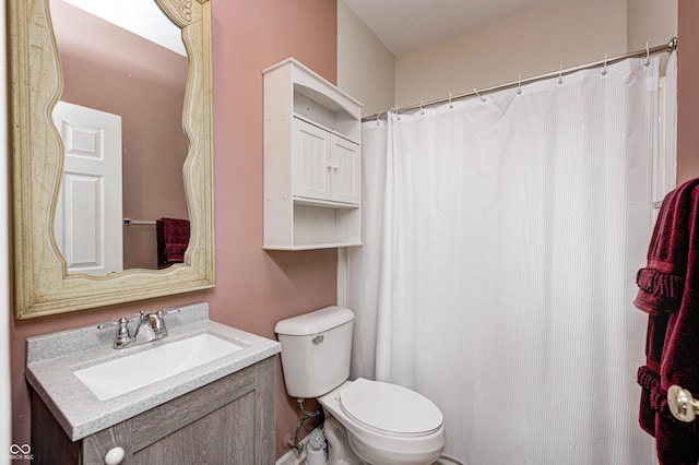
[[[63,146],[51,122],[62,73],[49,0],[8,0],[13,169],[14,288],[19,319],[213,287],[213,122],[210,0],[156,0],[182,29],[189,71],[182,127],[191,222],[185,263],[96,277],[68,275],[54,238]]]

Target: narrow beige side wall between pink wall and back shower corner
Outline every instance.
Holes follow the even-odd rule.
[[[337,0],[337,87],[364,104],[363,115],[395,102],[395,57],[344,0]]]

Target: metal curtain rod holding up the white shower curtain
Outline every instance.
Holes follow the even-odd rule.
[[[524,84],[531,84],[534,82],[538,82],[538,81],[544,81],[547,79],[552,79],[552,78],[559,78],[559,76],[565,76],[568,74],[572,74],[574,72],[578,71],[582,71],[582,70],[590,70],[590,69],[594,69],[594,68],[600,68],[603,65],[608,65],[608,64],[614,64],[617,63],[619,61],[626,60],[628,58],[640,58],[640,57],[645,57],[645,56],[651,56],[651,55],[655,55],[655,53],[661,53],[661,52],[672,52],[674,50],[677,49],[677,37],[673,37],[667,44],[665,45],[659,45],[652,48],[645,48],[643,50],[639,50],[639,51],[632,51],[629,53],[625,53],[625,55],[619,55],[617,57],[613,57],[613,58],[604,58],[604,60],[599,60],[599,61],[593,61],[591,63],[587,63],[587,64],[580,64],[578,67],[573,67],[573,68],[567,68],[567,69],[560,69],[559,71],[554,71],[550,73],[546,73],[546,74],[540,74],[534,78],[526,78],[526,79],[522,79],[522,80],[518,80],[514,82],[510,82],[507,84],[499,84],[499,85],[494,85],[491,87],[485,87],[482,90],[477,90],[474,88],[472,92],[466,92],[465,94],[459,94],[459,95],[452,95],[450,97],[447,98],[438,98],[435,100],[430,100],[430,102],[424,102],[417,105],[410,105],[406,107],[401,107],[401,108],[393,108],[392,111],[400,114],[400,112],[405,112],[405,111],[412,111],[412,110],[418,110],[420,108],[425,108],[425,107],[429,107],[429,106],[434,106],[434,105],[440,105],[440,104],[447,104],[449,102],[453,102],[453,100],[459,100],[459,99],[463,99],[463,98],[467,98],[467,97],[473,97],[473,96],[478,96],[481,97],[483,94],[488,94],[488,93],[493,93],[496,91],[505,91],[507,88],[513,88],[513,87],[519,87],[521,85]],[[362,121],[371,121],[371,120],[377,120],[379,118],[381,118],[381,115],[386,116],[386,112],[378,112],[378,114],[374,114],[371,116],[368,117],[364,117],[362,118]]]

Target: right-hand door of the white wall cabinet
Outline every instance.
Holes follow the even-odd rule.
[[[331,200],[359,204],[362,156],[359,145],[345,139],[331,138]]]

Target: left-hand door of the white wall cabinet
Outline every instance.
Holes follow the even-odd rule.
[[[294,195],[330,200],[330,133],[294,118]]]

